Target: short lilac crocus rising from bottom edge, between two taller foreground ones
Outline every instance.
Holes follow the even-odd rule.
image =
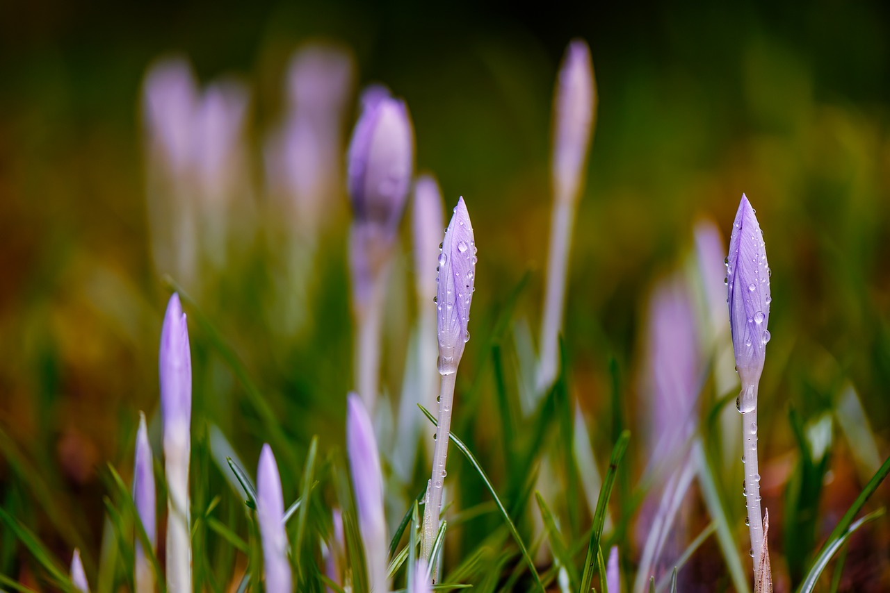
[[[287,533],[284,528],[284,496],[275,456],[263,445],[256,469],[256,517],[263,540],[267,591],[291,591],[290,564],[287,562]]]

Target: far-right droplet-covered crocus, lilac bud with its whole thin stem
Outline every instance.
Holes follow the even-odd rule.
[[[732,223],[729,256],[726,258],[726,284],[732,349],[741,380],[738,407],[741,413],[745,461],[745,500],[748,531],[754,562],[755,581],[760,576],[764,547],[763,519],[760,514],[760,474],[757,473],[757,384],[763,372],[766,329],[770,317],[770,268],[766,263],[764,236],[748,197],[742,194],[739,211]]]

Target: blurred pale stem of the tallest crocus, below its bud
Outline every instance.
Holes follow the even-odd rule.
[[[544,314],[541,317],[541,359],[538,366],[538,392],[546,391],[556,380],[559,368],[559,333],[565,306],[566,270],[574,226],[576,201],[557,196],[550,223],[550,251],[547,255],[547,284]]]

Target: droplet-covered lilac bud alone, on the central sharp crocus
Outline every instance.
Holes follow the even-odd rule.
[[[439,280],[436,309],[439,311],[439,373],[457,373],[464,356],[464,345],[470,340],[467,329],[470,304],[473,302],[476,275],[476,244],[470,213],[464,198],[457,200],[454,215],[445,229],[442,252],[439,254]]]

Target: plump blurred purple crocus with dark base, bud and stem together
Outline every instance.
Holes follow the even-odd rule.
[[[374,88],[349,148],[347,186],[352,200],[350,268],[352,309],[357,325],[355,374],[360,396],[371,410],[380,372],[380,326],[392,246],[411,181],[414,140],[408,109]]]

